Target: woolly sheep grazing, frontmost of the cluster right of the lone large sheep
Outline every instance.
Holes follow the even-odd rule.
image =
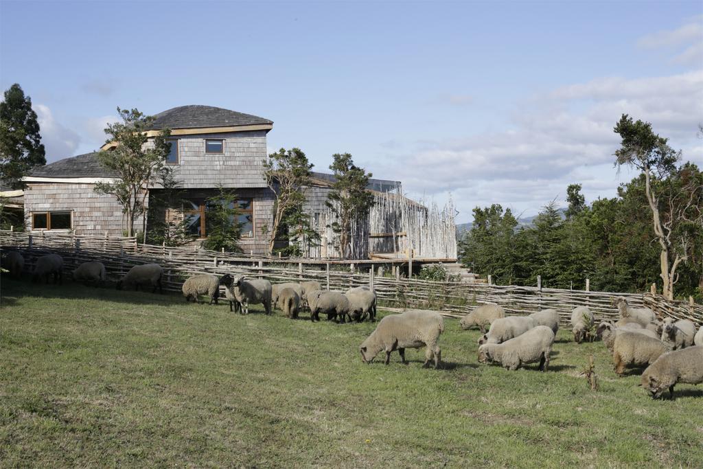
[[[554,343],[554,331],[548,326],[536,326],[502,344],[484,344],[479,347],[479,363],[498,362],[510,371],[539,361],[539,371],[547,371],[549,355]]]

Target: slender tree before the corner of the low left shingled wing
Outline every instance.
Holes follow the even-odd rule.
[[[113,143],[112,150],[98,152],[98,161],[103,167],[116,174],[114,182],[100,182],[95,191],[101,194],[115,195],[122,205],[122,213],[127,217],[127,236],[134,236],[134,221],[145,212],[148,188],[154,184],[160,169],[164,167],[171,143],[166,139],[169,129],[163,129],[155,136],[153,144],[149,143],[147,131],[154,120],[136,109],[117,108],[122,122],[108,124],[105,134],[108,143]],[[146,231],[146,219],[143,221]]]

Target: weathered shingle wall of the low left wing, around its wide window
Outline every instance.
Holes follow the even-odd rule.
[[[32,212],[71,212],[78,234],[122,236],[122,207],[113,195],[93,191],[94,184],[30,183],[25,190],[26,229],[32,229]],[[141,231],[142,219],[135,222]]]

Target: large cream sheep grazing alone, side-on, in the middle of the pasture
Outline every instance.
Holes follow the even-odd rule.
[[[434,359],[434,368],[439,368],[441,362],[441,349],[439,348],[439,335],[444,332],[444,319],[437,311],[411,309],[401,314],[392,314],[381,319],[371,335],[361,343],[359,351],[361,359],[370,364],[378,352],[385,350],[387,365],[391,352],[397,350],[403,364],[408,364],[405,359],[405,349],[427,347],[423,367],[430,365]]]

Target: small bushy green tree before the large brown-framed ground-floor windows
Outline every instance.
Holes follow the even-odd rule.
[[[214,251],[224,248],[225,252],[242,252],[239,241],[244,224],[239,221],[241,210],[237,194],[219,186],[218,193],[205,203],[207,238],[202,241],[202,247]]]

